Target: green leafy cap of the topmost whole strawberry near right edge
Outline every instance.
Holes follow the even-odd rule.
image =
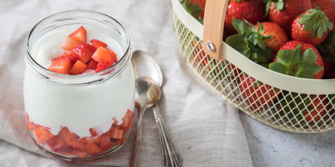
[[[332,30],[333,22],[329,21],[325,13],[320,8],[315,7],[307,10],[307,13],[301,14],[298,20],[299,24],[304,24],[303,30],[312,30],[311,36],[322,37]]]

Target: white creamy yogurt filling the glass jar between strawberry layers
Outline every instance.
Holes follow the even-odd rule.
[[[87,42],[93,38],[105,42],[120,60],[123,52],[113,38],[98,30],[85,28]],[[75,28],[61,28],[44,34],[33,46],[31,54],[34,60],[47,68],[52,58],[65,52],[60,45],[64,36],[74,30]],[[30,121],[50,128],[54,135],[58,134],[61,127],[67,127],[80,138],[91,136],[89,128],[102,134],[109,130],[112,118],[119,125],[128,109],[134,111],[131,63],[114,80],[89,87],[50,84],[26,67],[23,87],[25,112]]]

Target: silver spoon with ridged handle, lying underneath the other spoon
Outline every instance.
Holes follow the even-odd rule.
[[[147,52],[137,50],[132,53],[132,66],[135,73],[135,78],[150,77],[159,86],[162,85],[163,78],[158,64]],[[181,167],[182,158],[175,151],[170,135],[167,131],[165,122],[160,114],[158,105],[153,106],[153,114],[158,127],[159,138],[161,142],[162,158],[167,167]]]

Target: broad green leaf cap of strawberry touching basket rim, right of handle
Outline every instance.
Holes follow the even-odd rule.
[[[269,69],[290,76],[313,79],[313,75],[323,69],[315,64],[316,58],[312,48],[302,53],[301,44],[298,44],[294,50],[279,50],[277,62],[270,63]]]

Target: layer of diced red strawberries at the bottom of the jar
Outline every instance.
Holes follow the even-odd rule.
[[[50,128],[34,124],[26,115],[26,125],[30,136],[42,151],[60,156],[60,158],[85,159],[99,157],[107,152],[117,150],[126,141],[133,122],[134,113],[127,110],[122,118],[122,124],[117,125],[113,120],[110,129],[99,135],[90,128],[91,136],[79,138],[68,128],[62,127],[57,135],[50,132]],[[69,161],[72,161],[68,159]],[[65,159],[66,160],[66,159]]]

